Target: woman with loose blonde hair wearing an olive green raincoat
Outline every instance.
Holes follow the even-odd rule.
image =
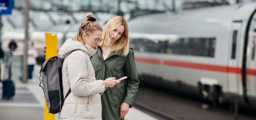
[[[128,25],[122,16],[114,16],[105,25],[102,42],[92,56],[96,79],[127,76],[102,94],[102,120],[124,120],[132,107],[139,83],[134,52],[129,47]]]

